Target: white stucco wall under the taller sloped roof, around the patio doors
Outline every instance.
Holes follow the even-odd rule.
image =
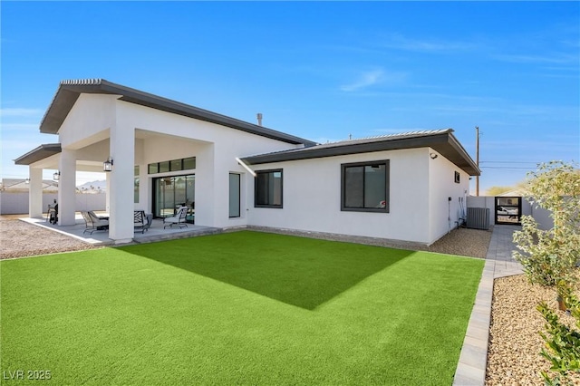
[[[152,179],[193,173],[196,176],[196,224],[209,227],[247,225],[247,185],[253,177],[237,164],[237,157],[297,147],[218,124],[193,120],[118,101],[117,114],[137,129],[135,160],[140,166],[140,202],[135,208],[153,205]],[[301,146],[301,145],[299,145]],[[196,157],[193,171],[147,174],[151,162]],[[229,218],[229,173],[239,173],[242,184],[241,217]],[[143,194],[146,196],[144,197]],[[252,198],[253,202],[253,198]]]

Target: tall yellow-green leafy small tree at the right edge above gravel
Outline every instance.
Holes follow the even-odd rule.
[[[536,220],[522,217],[522,230],[514,233],[518,251],[513,256],[524,266],[531,283],[556,287],[570,275],[580,259],[580,172],[562,161],[538,165],[528,174],[525,189],[532,205],[544,207],[554,227],[539,229]]]

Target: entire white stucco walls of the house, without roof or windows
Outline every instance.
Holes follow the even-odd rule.
[[[236,158],[301,145],[119,101],[111,95],[82,94],[64,121],[59,140],[63,150],[74,150],[77,162],[102,162],[110,155],[115,159],[108,180],[115,199],[122,201],[122,210],[111,205],[111,211],[123,214],[122,218],[111,214],[118,226],[111,226],[110,235],[121,238],[128,236],[121,227],[132,232],[129,215],[133,208],[152,209],[152,179],[167,176],[195,174],[198,225],[283,227],[422,244],[431,244],[456,225],[463,215],[459,198],[469,190],[469,176],[440,155],[430,159],[433,150],[391,150],[252,167],[284,169],[284,207],[256,208],[254,178]],[[189,157],[196,157],[195,170],[148,174],[152,162]],[[341,211],[341,164],[383,159],[390,160],[390,213]],[[132,203],[134,165],[140,167],[137,204]],[[453,181],[455,170],[460,173],[459,184]],[[241,216],[236,218],[228,216],[231,172],[241,175]]]

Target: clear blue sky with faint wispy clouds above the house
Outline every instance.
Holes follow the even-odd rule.
[[[578,2],[6,2],[2,178],[102,78],[309,140],[453,128],[480,191],[580,159]],[[48,178],[52,171],[45,171]],[[78,184],[94,179],[79,176]],[[473,184],[472,184],[473,185]]]

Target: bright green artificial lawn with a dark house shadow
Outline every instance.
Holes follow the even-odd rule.
[[[2,381],[449,385],[483,265],[248,231],[4,261]]]

